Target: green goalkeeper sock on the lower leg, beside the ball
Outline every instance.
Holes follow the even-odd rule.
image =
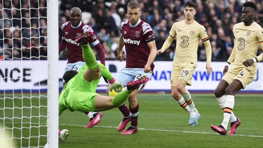
[[[116,107],[120,107],[123,105],[123,103],[128,99],[132,91],[134,90],[128,90],[125,89],[125,91],[119,92],[113,99],[112,99],[112,105]]]

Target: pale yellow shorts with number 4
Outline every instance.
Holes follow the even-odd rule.
[[[236,74],[237,72],[238,74]],[[239,80],[243,85],[243,89],[245,89],[248,84],[254,81],[256,74],[256,72],[248,69],[241,69],[240,71],[236,71],[235,69],[233,69],[227,71],[227,73],[222,77],[221,80],[227,81],[229,85],[233,82],[233,80]]]

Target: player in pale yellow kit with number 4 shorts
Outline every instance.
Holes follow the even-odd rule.
[[[224,76],[215,89],[215,97],[224,111],[224,119],[220,126],[211,125],[210,127],[221,135],[227,134],[229,120],[231,125],[228,135],[235,134],[236,128],[241,124],[241,121],[232,112],[235,103],[234,96],[239,90],[245,89],[253,82],[257,73],[257,62],[262,61],[263,54],[256,57],[259,44],[263,49],[263,29],[254,22],[256,11],[255,3],[247,1],[243,4],[243,22],[233,27],[234,48],[224,67]],[[228,71],[228,66],[232,62]]]

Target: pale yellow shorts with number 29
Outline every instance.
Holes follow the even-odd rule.
[[[183,79],[187,82],[186,85],[192,85],[192,75],[195,71],[194,66],[175,66],[172,65],[171,71],[171,86],[176,86],[178,79]]]

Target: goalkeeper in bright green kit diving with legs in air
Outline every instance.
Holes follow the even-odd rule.
[[[119,107],[128,99],[132,91],[149,80],[145,76],[136,81],[128,82],[127,89],[121,91],[115,97],[97,94],[96,88],[101,75],[105,76],[111,83],[111,91],[112,89],[116,92],[120,91],[123,85],[119,81],[115,81],[103,64],[96,61],[93,51],[88,45],[88,41],[92,36],[94,36],[94,32],[87,31],[76,39],[76,42],[82,46],[83,59],[86,65],[83,65],[79,72],[71,70],[63,75],[66,85],[59,96],[59,115],[66,109],[71,112],[100,112]]]

